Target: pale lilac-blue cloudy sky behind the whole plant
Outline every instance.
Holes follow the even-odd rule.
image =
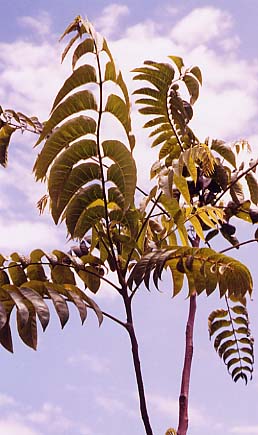
[[[87,16],[107,37],[133,91],[131,70],[145,59],[167,61],[179,55],[186,65],[199,65],[203,87],[195,105],[192,128],[205,139],[229,142],[246,138],[254,158],[258,143],[258,53],[256,0],[228,1],[82,1],[10,0],[0,15],[0,104],[46,119],[51,102],[70,74],[60,63],[58,38],[78,14]],[[137,137],[138,183],[148,183],[147,163],[155,158],[132,106]],[[36,202],[44,185],[32,175],[37,150],[30,134],[12,140],[7,169],[0,169],[0,252],[28,253],[69,249],[65,228],[50,216],[38,215]],[[250,234],[254,232],[251,228]],[[247,237],[242,226],[241,237]],[[221,243],[220,248],[226,245]],[[251,269],[254,297],[251,329],[258,336],[256,247],[237,257]],[[134,303],[150,419],[155,435],[177,427],[183,361],[186,292],[171,299],[171,283],[163,292],[141,289]],[[103,310],[123,317],[120,300],[102,288],[96,300]],[[216,295],[198,298],[190,395],[189,435],[258,435],[258,377],[248,386],[234,384],[208,339],[207,317],[223,306]],[[38,350],[14,334],[13,355],[0,349],[0,433],[8,435],[144,435],[136,397],[128,337],[94,316],[82,327],[75,310],[63,331],[54,313],[40,334]]]

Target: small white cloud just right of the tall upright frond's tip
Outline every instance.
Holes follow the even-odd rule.
[[[102,14],[95,20],[96,29],[105,37],[111,37],[117,33],[121,17],[129,14],[129,8],[126,5],[112,3],[106,6]]]

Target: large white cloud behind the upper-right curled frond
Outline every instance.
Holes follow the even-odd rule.
[[[211,10],[215,14],[216,25],[218,25],[224,12],[214,8]],[[196,12],[191,14],[191,20],[193,26],[201,27]],[[216,26],[215,28],[217,29]],[[167,62],[167,56],[174,54],[181,55],[186,66],[200,66],[203,73],[203,87],[194,107],[195,116],[191,126],[201,140],[206,136],[231,140],[244,136],[250,130],[250,126],[254,125],[258,113],[257,60],[247,61],[235,51],[236,40],[239,37],[232,33],[233,29],[227,42],[220,29],[217,30],[217,33],[215,30],[211,32],[209,41],[224,44],[224,48],[230,49],[230,52],[218,52],[215,46],[210,44],[208,47],[200,39],[190,47],[186,41],[179,42],[174,34],[170,36],[166,32],[161,32],[153,21],[141,22],[127,28],[123,38],[110,44],[118,64],[122,67],[130,91],[136,86],[140,87],[141,82],[132,82],[133,75],[129,71],[141,66],[146,59]],[[123,55],[125,47],[126,56]],[[136,118],[136,115],[133,116]],[[144,116],[137,116],[137,121],[134,122],[137,132],[141,130],[144,121],[146,121]],[[152,150],[149,147],[148,151],[146,150],[145,144],[148,143],[146,133],[142,132],[140,135],[140,140],[137,140],[137,151],[146,156],[152,153]],[[147,166],[146,161],[145,166]]]

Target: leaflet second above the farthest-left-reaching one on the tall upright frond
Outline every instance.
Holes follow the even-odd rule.
[[[87,83],[96,83],[97,76],[96,70],[91,65],[83,65],[76,69],[72,75],[65,81],[64,85],[58,92],[55,101],[53,103],[51,113],[54,111],[56,106],[75,88],[85,85]]]

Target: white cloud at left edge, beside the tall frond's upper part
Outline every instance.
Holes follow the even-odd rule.
[[[68,65],[60,65],[61,47],[24,40],[0,43],[3,108],[15,108],[41,120],[48,116],[51,101],[68,73]],[[31,143],[33,140],[30,138]]]

